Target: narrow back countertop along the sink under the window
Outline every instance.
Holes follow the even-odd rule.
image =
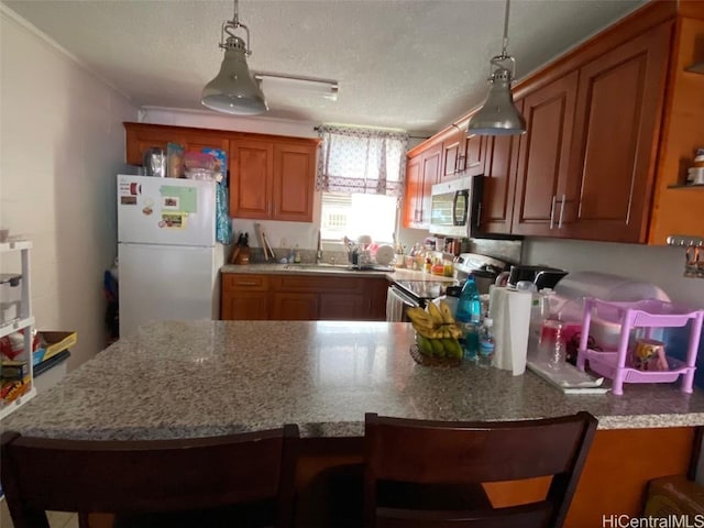
[[[392,272],[384,271],[355,271],[346,270],[346,266],[329,266],[315,264],[226,264],[220,268],[221,273],[255,273],[255,274],[305,274],[305,275],[330,275],[336,274],[349,277],[386,277],[388,280],[428,280],[453,283],[453,277],[431,275],[425,272],[415,272],[397,267]]]

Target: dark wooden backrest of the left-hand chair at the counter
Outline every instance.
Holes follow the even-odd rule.
[[[4,432],[0,477],[15,528],[46,510],[114,526],[274,526],[294,517],[298,426],[222,437],[82,441]]]

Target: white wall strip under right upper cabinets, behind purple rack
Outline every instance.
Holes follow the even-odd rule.
[[[660,286],[673,300],[704,308],[704,279],[682,276],[683,248],[526,239],[522,252],[526,264],[634,277]]]

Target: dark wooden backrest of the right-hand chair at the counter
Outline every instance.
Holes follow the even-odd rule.
[[[367,527],[560,527],[597,420],[588,413],[524,421],[428,421],[365,418],[364,516]],[[380,504],[384,482],[470,485],[552,475],[544,501],[492,508],[464,504],[422,510]]]

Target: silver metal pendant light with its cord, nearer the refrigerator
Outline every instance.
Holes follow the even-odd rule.
[[[234,34],[239,28],[246,33],[246,44]],[[218,112],[238,116],[266,112],[264,92],[246,65],[246,57],[252,54],[250,30],[240,22],[238,0],[234,0],[234,16],[222,23],[219,46],[224,50],[220,73],[202,89],[200,102]]]

